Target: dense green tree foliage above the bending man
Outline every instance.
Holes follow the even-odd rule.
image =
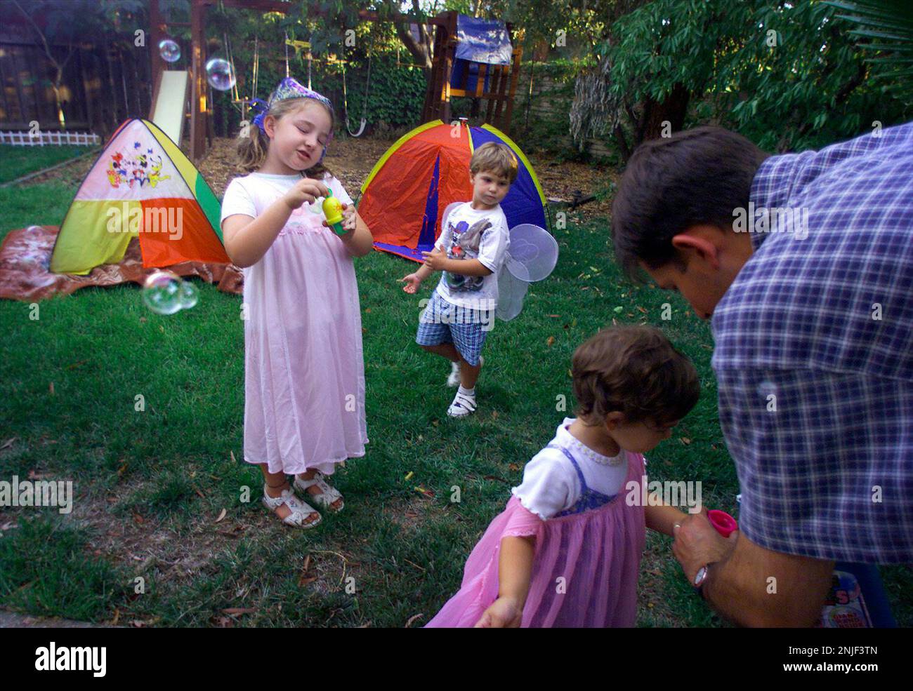
[[[834,7],[814,0],[656,0],[619,18],[597,47],[599,78],[578,92],[575,134],[631,150],[687,117],[738,129],[766,150],[820,146],[908,113]],[[679,120],[677,122],[677,119]]]

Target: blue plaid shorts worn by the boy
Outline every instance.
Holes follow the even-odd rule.
[[[494,310],[474,310],[450,304],[435,290],[418,320],[415,343],[419,346],[452,343],[469,365],[477,366],[494,319]]]

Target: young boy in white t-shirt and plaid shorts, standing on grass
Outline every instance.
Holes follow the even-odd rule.
[[[517,179],[517,159],[503,144],[480,146],[469,161],[472,201],[456,207],[425,263],[400,279],[415,294],[432,272],[441,281],[419,319],[415,342],[453,364],[447,386],[456,397],[447,408],[451,418],[476,409],[476,380],[482,366],[482,345],[494,326],[498,306],[498,271],[509,247],[508,222],[500,202]]]

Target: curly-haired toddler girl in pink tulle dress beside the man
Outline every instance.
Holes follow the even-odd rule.
[[[641,454],[697,403],[698,374],[657,329],[619,326],[577,348],[572,375],[578,418],[527,464],[428,626],[635,624],[645,528],[685,517],[643,500]]]

